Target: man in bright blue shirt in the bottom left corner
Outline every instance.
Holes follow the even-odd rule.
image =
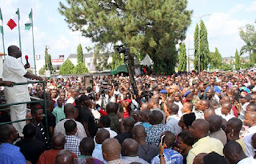
[[[0,126],[0,163],[26,164],[26,159],[18,146],[13,143],[18,139],[18,131],[12,125]]]

